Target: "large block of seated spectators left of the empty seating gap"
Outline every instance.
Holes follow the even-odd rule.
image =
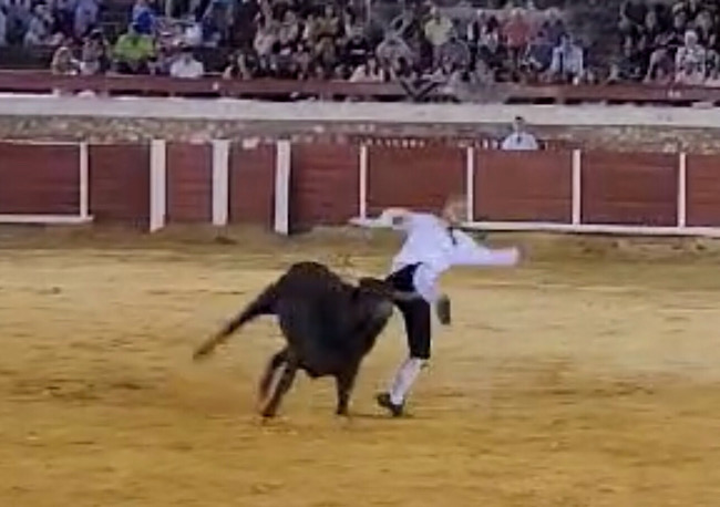
[[[58,74],[197,77],[208,71],[197,49],[230,48],[217,69],[226,79],[400,81],[418,95],[442,84],[586,75],[583,49],[560,12],[538,11],[532,1],[464,20],[423,3],[377,31],[350,7],[312,0],[174,0],[172,18],[136,0],[112,43],[99,25],[102,0],[42,1],[0,0],[0,45],[56,48]]]

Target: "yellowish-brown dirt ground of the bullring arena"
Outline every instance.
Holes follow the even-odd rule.
[[[394,317],[351,420],[300,375],[263,424],[272,321],[193,348],[290,260],[381,273],[392,240],[0,235],[0,506],[720,505],[718,256],[515,239],[520,269],[443,280],[454,323],[410,417],[372,402]]]

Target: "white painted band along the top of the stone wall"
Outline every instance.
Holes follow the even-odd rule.
[[[232,99],[58,97],[0,95],[1,116],[96,116],[167,120],[308,121],[364,123],[510,123],[557,126],[720,128],[720,107],[631,105],[405,104],[369,102],[271,103]]]

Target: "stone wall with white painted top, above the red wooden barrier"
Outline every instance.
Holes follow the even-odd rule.
[[[501,139],[522,114],[551,146],[720,153],[720,110],[412,104],[218,104],[215,101],[0,99],[0,138],[200,142],[352,136]],[[66,101],[70,101],[66,102]],[[120,105],[119,105],[120,104]],[[146,107],[145,107],[146,105]],[[175,107],[177,110],[175,110]],[[90,111],[96,113],[90,115]],[[382,115],[385,116],[382,116]]]

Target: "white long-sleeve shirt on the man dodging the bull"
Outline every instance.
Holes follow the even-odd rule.
[[[377,220],[358,223],[366,227],[392,227],[405,234],[402,248],[392,259],[391,271],[420,265],[413,277],[418,293],[434,304],[440,298],[438,278],[453,266],[514,266],[520,260],[516,248],[482,247],[466,232],[449,229],[431,214],[388,209]]]

